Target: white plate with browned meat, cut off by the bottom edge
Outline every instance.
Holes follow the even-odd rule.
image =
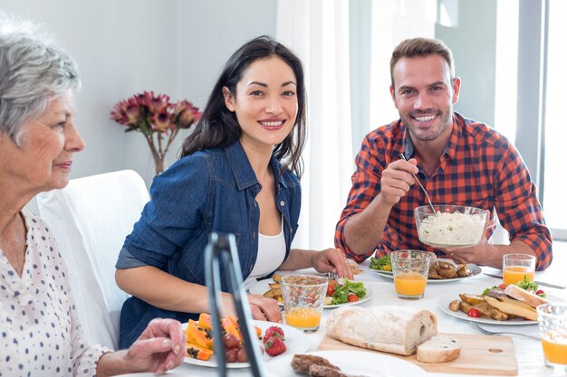
[[[397,357],[363,351],[315,351],[305,354],[288,355],[266,365],[268,372],[277,372],[280,377],[309,375],[309,368],[318,369],[316,375],[336,375],[329,369],[340,368],[341,375],[357,377],[394,377],[428,375],[418,365]],[[329,372],[327,372],[329,371]],[[336,371],[336,370],[335,370]],[[334,372],[336,373],[336,372]]]

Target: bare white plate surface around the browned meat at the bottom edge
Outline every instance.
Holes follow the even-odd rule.
[[[337,350],[315,351],[307,354],[324,357],[341,368],[341,372],[349,374],[368,377],[426,377],[428,375],[427,372],[416,364],[381,353]],[[293,372],[291,366],[292,359],[293,355],[289,355],[277,361],[274,360],[274,362],[266,364],[266,370],[277,373],[279,377],[304,376],[305,374]]]

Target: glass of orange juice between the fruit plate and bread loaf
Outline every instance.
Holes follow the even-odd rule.
[[[319,329],[327,292],[327,278],[292,275],[282,278],[285,323],[304,332]]]

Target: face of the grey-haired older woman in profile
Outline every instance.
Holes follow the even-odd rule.
[[[0,135],[0,156],[14,184],[37,193],[69,182],[72,154],[84,147],[74,125],[72,91],[53,99],[39,118],[24,123],[21,146]],[[4,170],[4,169],[3,169]]]

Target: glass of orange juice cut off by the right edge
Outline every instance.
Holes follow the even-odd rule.
[[[567,304],[537,306],[545,364],[567,372]]]

